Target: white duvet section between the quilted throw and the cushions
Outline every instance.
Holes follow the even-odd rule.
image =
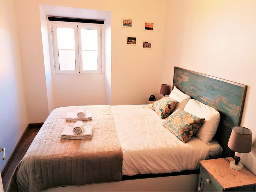
[[[123,151],[123,175],[199,168],[199,161],[209,157],[210,147],[197,137],[180,141],[149,106],[111,106]]]

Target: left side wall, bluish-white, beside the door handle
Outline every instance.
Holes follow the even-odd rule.
[[[28,117],[14,2],[0,3],[0,147],[6,150],[4,161],[0,153],[2,170],[28,124]]]

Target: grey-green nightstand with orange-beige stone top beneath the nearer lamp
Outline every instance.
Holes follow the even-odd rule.
[[[234,161],[232,157],[227,157]],[[209,159],[200,161],[198,191],[254,191],[256,177],[243,167],[238,171],[229,166],[229,161]]]

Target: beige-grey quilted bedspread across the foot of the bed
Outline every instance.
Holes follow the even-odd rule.
[[[92,137],[64,140],[60,135],[66,112],[81,106],[57,108],[51,112],[10,179],[7,191],[43,191],[68,185],[120,181],[122,148],[110,105],[85,106],[91,111]]]

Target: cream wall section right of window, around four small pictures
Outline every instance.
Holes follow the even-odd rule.
[[[165,5],[166,1],[111,3],[112,105],[147,104],[151,94],[159,93]],[[122,17],[132,17],[133,28],[122,28]],[[144,31],[143,22],[153,22],[154,31]],[[126,36],[137,37],[138,45],[125,45]],[[143,40],[153,41],[151,50],[141,48]]]

